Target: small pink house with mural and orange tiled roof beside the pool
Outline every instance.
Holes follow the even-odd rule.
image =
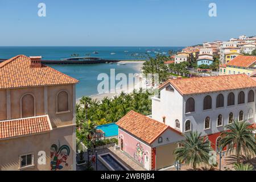
[[[174,165],[175,141],[182,133],[164,123],[130,111],[117,122],[119,148],[147,170]]]

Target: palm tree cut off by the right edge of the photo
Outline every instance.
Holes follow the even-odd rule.
[[[233,153],[236,149],[237,163],[240,163],[240,155],[244,152],[245,155],[256,154],[255,136],[253,135],[253,128],[250,123],[246,121],[234,121],[231,125],[226,125],[220,146],[223,148],[228,146],[228,150]]]

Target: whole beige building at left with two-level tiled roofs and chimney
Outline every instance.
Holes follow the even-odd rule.
[[[76,83],[15,56],[0,64],[0,171],[76,170]]]

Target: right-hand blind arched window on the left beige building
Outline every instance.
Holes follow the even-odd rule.
[[[66,91],[57,94],[57,112],[69,111],[69,95]]]

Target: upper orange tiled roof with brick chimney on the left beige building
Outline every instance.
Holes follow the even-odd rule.
[[[30,64],[31,59],[24,55],[18,55],[0,63],[0,89],[65,85],[79,82],[46,65],[42,65],[40,68],[31,68]]]

